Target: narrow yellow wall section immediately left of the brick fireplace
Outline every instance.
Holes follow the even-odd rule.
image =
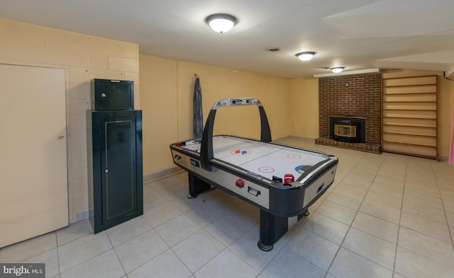
[[[290,135],[319,137],[319,79],[290,80]]]

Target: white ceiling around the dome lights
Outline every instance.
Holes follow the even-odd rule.
[[[140,54],[299,78],[331,66],[454,76],[453,0],[1,0],[0,17],[139,45]],[[212,13],[238,24],[215,33]],[[269,47],[281,47],[269,52]],[[309,62],[295,54],[314,51]]]

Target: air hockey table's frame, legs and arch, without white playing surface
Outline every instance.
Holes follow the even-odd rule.
[[[214,137],[216,110],[241,105],[258,105],[261,124],[260,140],[226,135]],[[294,149],[307,155],[321,156],[323,159],[291,182],[275,179],[275,177],[267,178],[255,171],[216,158],[214,139],[218,137],[244,140],[251,144],[267,144],[275,148]],[[189,144],[194,144],[194,141],[200,142],[200,148],[196,150],[187,148]],[[333,183],[338,164],[336,156],[273,143],[265,110],[256,98],[218,100],[210,110],[202,138],[179,141],[171,144],[170,149],[174,163],[188,172],[188,197],[197,197],[213,185],[260,208],[258,247],[265,251],[272,250],[273,244],[302,216],[308,214],[309,206],[316,202]]]

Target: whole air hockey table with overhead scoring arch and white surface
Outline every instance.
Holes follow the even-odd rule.
[[[213,135],[216,110],[257,105],[260,140]],[[188,172],[189,198],[211,186],[260,208],[261,250],[272,250],[314,204],[336,175],[338,158],[320,151],[273,143],[260,100],[224,98],[209,112],[201,138],[170,145],[174,163]]]

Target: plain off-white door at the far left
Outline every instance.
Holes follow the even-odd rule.
[[[0,64],[0,248],[68,219],[65,69]]]

